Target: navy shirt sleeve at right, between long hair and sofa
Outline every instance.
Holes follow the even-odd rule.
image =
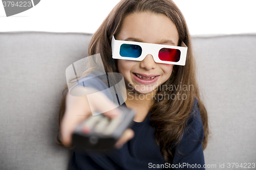
[[[173,169],[205,169],[203,138],[203,123],[195,99],[187,128],[175,150]]]

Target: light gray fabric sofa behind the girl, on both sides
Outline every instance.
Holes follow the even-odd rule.
[[[0,169],[68,168],[71,152],[55,144],[58,107],[65,70],[87,56],[90,39],[85,33],[0,33]],[[254,44],[256,34],[193,37],[211,132],[205,163],[216,165],[206,169],[256,163]]]

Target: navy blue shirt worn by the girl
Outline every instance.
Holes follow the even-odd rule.
[[[126,106],[125,103],[123,105]],[[150,117],[148,112],[143,122],[133,122],[132,129],[135,136],[121,149],[114,149],[107,154],[83,153],[75,150],[70,169],[205,169],[202,148],[204,130],[197,99],[187,129],[174,151],[173,164],[166,163],[161,155]]]

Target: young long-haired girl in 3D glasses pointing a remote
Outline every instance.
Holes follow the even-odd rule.
[[[132,46],[128,54],[112,56],[116,48],[121,48],[112,46],[112,41]],[[187,46],[185,57],[182,50],[172,51],[183,43]],[[105,72],[123,75],[127,91],[123,105],[136,110],[134,125],[117,141],[114,152],[94,155],[75,151],[71,169],[204,169],[207,111],[200,100],[186,22],[174,2],[119,2],[91,39],[89,56],[98,53]],[[185,65],[180,64],[183,59]],[[86,97],[69,93],[63,96],[59,110],[60,145],[72,147],[72,132],[86,119],[77,115],[89,115],[99,105],[114,107],[104,95],[97,101],[89,106]],[[113,118],[119,111],[103,114]]]

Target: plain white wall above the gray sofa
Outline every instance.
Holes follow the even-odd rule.
[[[11,0],[10,0],[11,1]],[[93,33],[119,0],[41,0],[34,8],[6,17],[0,4],[0,32]],[[174,0],[192,35],[256,33],[254,0]]]

